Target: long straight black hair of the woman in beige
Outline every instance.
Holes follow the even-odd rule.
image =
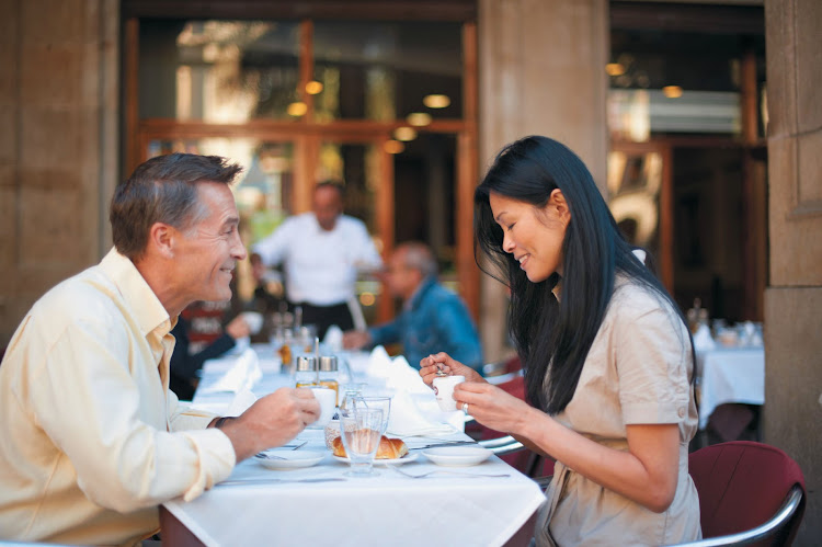
[[[558,274],[532,283],[503,250],[503,231],[489,202],[494,193],[543,207],[555,189],[562,192],[571,213],[562,242],[564,277],[559,301],[551,293]],[[527,397],[546,412],[562,411],[573,397],[617,273],[653,289],[685,322],[660,281],[620,235],[587,168],[564,145],[539,136],[507,145],[477,187],[473,205],[475,259],[480,269],[511,288],[509,324],[525,368]],[[494,272],[486,270],[480,252]]]

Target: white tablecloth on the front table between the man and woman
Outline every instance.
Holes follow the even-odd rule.
[[[208,375],[206,371],[204,381]],[[264,373],[261,385],[276,385],[283,376]],[[218,412],[216,396],[210,394],[201,403]],[[197,399],[195,396],[195,406]],[[230,395],[224,394],[224,403],[229,400]],[[306,430],[297,437],[298,442],[308,442],[300,449],[318,451],[326,451],[323,438],[322,430]],[[475,466],[442,467],[418,449],[425,444],[467,438],[460,432],[441,437],[406,437],[415,460],[402,465],[402,470],[413,475],[455,472],[425,479],[404,477],[387,465],[375,466],[377,477],[345,477],[349,465],[334,459],[328,451],[318,465],[288,470],[267,469],[250,458],[240,463],[228,480],[260,482],[217,485],[191,502],[165,503],[161,510],[163,538],[187,537],[189,545],[206,546],[492,546],[505,545],[512,536],[522,538],[524,534],[522,545],[527,545],[534,512],[545,500],[536,482],[496,456]],[[264,482],[320,477],[345,480]]]

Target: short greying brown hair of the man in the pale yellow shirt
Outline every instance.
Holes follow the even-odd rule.
[[[112,196],[114,247],[132,260],[139,258],[155,223],[185,229],[204,214],[196,183],[230,184],[240,171],[226,158],[195,153],[170,153],[140,163]]]

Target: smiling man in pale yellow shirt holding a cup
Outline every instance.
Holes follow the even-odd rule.
[[[0,366],[0,539],[132,545],[158,505],[192,500],[319,415],[279,389],[236,419],[178,404],[170,334],[195,300],[227,300],[246,249],[218,157],[171,155],[117,186],[114,249],[43,296]]]

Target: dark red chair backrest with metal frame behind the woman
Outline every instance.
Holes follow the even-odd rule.
[[[804,512],[804,477],[787,454],[749,441],[706,446],[690,454],[688,470],[699,493],[703,537],[749,531],[774,516],[795,485],[802,489],[798,510],[769,542],[790,545]]]

